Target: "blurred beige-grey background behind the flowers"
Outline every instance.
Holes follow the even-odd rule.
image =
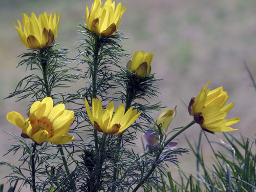
[[[17,156],[2,157],[12,144],[6,132],[20,134],[20,129],[6,120],[10,111],[18,111],[24,116],[27,111],[26,101],[15,102],[17,98],[5,99],[14,91],[17,82],[25,75],[25,67],[15,69],[19,54],[26,52],[20,42],[13,22],[22,20],[22,13],[30,15],[57,10],[61,19],[56,42],[61,47],[71,48],[69,56],[74,58],[77,41],[77,26],[84,23],[84,0],[1,0],[0,2],[0,161],[9,160],[15,163]],[[118,1],[119,2],[119,1]],[[236,137],[255,136],[255,90],[250,86],[251,80],[243,61],[246,60],[251,73],[256,78],[256,1],[251,0],[122,0],[127,7],[119,29],[130,39],[123,41],[123,47],[133,54],[134,51],[152,52],[152,72],[157,78],[161,94],[154,102],[162,101],[168,108],[178,105],[178,114],[169,129],[182,126],[192,118],[181,102],[188,104],[191,97],[196,96],[211,79],[210,87],[224,87],[228,92],[228,102],[236,103],[228,117],[241,117],[242,120],[233,125],[240,131],[232,132]],[[123,61],[125,66],[127,60]],[[26,74],[29,74],[27,72]],[[74,84],[70,90],[80,88],[82,84]],[[157,114],[156,114],[157,116]],[[198,139],[200,127],[194,125],[185,135],[194,142]],[[210,135],[211,140],[218,141],[222,134]],[[180,147],[188,147],[184,134],[179,136]],[[140,140],[138,151],[142,151]],[[214,145],[215,146],[215,145]],[[217,145],[216,145],[217,147]],[[208,144],[203,143],[207,149]],[[212,153],[205,151],[205,159],[211,161]],[[181,167],[188,173],[195,172],[195,162],[190,155],[179,158]],[[209,167],[211,165],[209,164]],[[177,170],[171,165],[168,170],[178,178]],[[0,183],[9,173],[6,167],[0,167]],[[177,176],[176,176],[177,175]],[[7,190],[7,186],[5,186]]]

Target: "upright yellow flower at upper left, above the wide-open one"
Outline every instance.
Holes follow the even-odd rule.
[[[57,21],[56,14],[57,11],[55,12],[54,16],[52,13],[47,15],[45,12],[44,14],[40,14],[37,19],[34,13],[31,13],[31,17],[23,13],[23,28],[19,20],[17,20],[18,27],[13,23],[18,32],[20,40],[27,48],[42,49],[54,43],[60,18],[59,13]]]

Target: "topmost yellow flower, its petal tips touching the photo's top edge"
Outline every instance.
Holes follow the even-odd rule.
[[[107,0],[102,7],[101,0],[95,0],[91,13],[86,4],[87,28],[101,36],[111,36],[118,28],[120,19],[126,7],[119,3],[115,10],[115,2]]]

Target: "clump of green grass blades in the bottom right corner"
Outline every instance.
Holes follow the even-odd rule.
[[[207,135],[204,133],[205,137]],[[180,170],[181,184],[174,181],[170,172],[167,173],[168,183],[155,186],[155,189],[163,187],[162,191],[254,191],[256,190],[255,180],[255,140],[245,140],[241,136],[242,142],[234,138],[231,134],[225,134],[226,142],[220,144],[226,152],[216,152],[212,143],[208,144],[212,148],[215,157],[215,164],[210,169],[203,159],[201,151],[202,132],[195,147],[187,139],[191,151],[196,157],[197,176],[187,176],[186,172]],[[200,169],[202,168],[202,173]]]

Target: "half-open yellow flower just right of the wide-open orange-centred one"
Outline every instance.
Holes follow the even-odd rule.
[[[95,130],[112,135],[122,134],[139,116],[137,110],[131,107],[124,113],[124,104],[118,106],[114,115],[114,103],[111,101],[107,108],[103,111],[102,104],[99,99],[93,98],[92,112],[90,110],[87,99],[86,111]],[[113,116],[113,117],[112,117]]]

